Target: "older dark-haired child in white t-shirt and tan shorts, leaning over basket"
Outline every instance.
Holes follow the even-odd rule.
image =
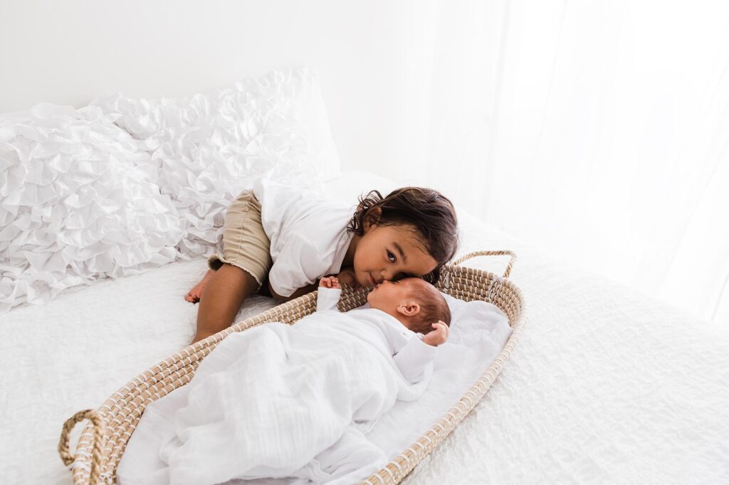
[[[186,297],[200,301],[192,342],[230,326],[267,277],[281,300],[313,291],[326,275],[354,287],[405,276],[434,282],[458,245],[451,201],[418,187],[370,192],[355,209],[263,180],[233,202],[224,229],[222,255]]]

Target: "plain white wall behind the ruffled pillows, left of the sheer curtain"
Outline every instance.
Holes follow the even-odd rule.
[[[106,92],[204,92],[306,65],[321,76],[343,168],[387,175],[402,154],[401,27],[415,5],[0,0],[0,113],[41,101],[83,106]]]

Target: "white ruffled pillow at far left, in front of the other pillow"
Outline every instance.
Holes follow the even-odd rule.
[[[182,224],[98,108],[0,117],[0,310],[174,261]]]

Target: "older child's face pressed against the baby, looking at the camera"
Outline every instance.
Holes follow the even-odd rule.
[[[437,261],[423,248],[412,230],[404,226],[371,225],[354,253],[354,277],[362,286],[405,276],[423,276]]]

